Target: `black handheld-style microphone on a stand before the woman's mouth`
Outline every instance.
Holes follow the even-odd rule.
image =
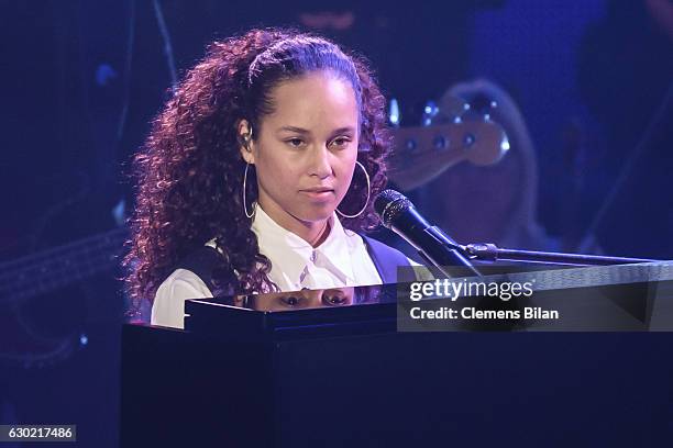
[[[401,236],[418,250],[429,264],[435,266],[448,277],[454,277],[446,267],[466,268],[474,276],[481,277],[474,266],[461,251],[463,248],[441,228],[430,225],[417,211],[411,201],[395,190],[383,191],[374,201],[374,210],[383,225]],[[455,273],[455,272],[454,272]]]

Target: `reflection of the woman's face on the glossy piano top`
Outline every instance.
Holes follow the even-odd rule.
[[[249,295],[247,303],[236,298],[239,306],[260,311],[302,310],[327,306],[349,306],[353,304],[355,288],[332,288],[322,290],[302,290],[296,292],[272,292]]]

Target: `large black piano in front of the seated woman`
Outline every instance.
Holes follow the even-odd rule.
[[[495,302],[411,302],[408,283],[188,301],[184,331],[123,329],[122,447],[672,446],[669,277]],[[419,304],[459,318],[418,323]]]

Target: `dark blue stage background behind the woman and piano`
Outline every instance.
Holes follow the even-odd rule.
[[[117,446],[124,296],[122,272],[100,262],[113,245],[99,236],[132,208],[129,160],[170,94],[173,69],[179,79],[207,43],[254,25],[322,33],[368,57],[402,125],[420,123],[452,85],[489,79],[518,104],[537,156],[527,187],[537,211],[526,219],[538,237],[501,242],[670,259],[672,9],[666,0],[1,1],[0,276],[12,276],[0,279],[73,257],[84,265],[65,266],[64,283],[42,290],[19,283],[27,296],[0,302],[0,423],[76,423],[82,446]],[[465,223],[487,221],[479,213],[490,204],[488,191],[485,201],[471,195],[478,172],[456,186],[453,169],[409,194],[462,235]],[[507,190],[514,179],[498,182]],[[466,198],[457,212],[437,203],[452,195]]]

